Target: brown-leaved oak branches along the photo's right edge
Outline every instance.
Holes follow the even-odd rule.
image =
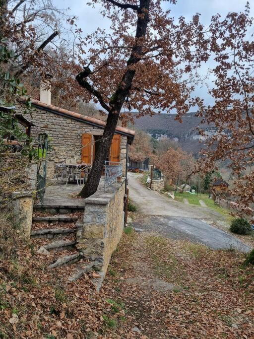
[[[216,169],[218,160],[227,160],[235,178],[232,194],[244,213],[254,209],[254,41],[249,3],[244,13],[229,13],[225,20],[212,18],[210,49],[214,55],[215,104],[199,102],[198,115],[213,124],[216,134],[208,138],[199,170]],[[250,40],[249,40],[250,39]],[[200,130],[200,134],[205,135]]]

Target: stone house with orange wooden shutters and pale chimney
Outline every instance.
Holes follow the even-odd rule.
[[[30,136],[49,136],[48,177],[54,173],[55,163],[93,163],[96,141],[103,134],[105,122],[51,105],[50,91],[41,89],[41,100],[31,99],[32,110],[28,119],[33,124]],[[16,105],[17,114],[22,114],[22,105]],[[26,115],[28,116],[28,115]],[[127,148],[134,138],[134,131],[118,126],[112,140],[107,160],[122,162],[126,173]],[[52,145],[52,146],[51,146]]]

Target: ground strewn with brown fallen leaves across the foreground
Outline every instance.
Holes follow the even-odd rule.
[[[244,256],[127,229],[100,293],[32,243],[0,264],[0,338],[253,338]],[[52,254],[53,256],[53,254]]]

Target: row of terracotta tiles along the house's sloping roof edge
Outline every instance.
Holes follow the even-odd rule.
[[[99,120],[99,119],[94,119],[94,118],[91,118],[91,117],[87,117],[85,115],[82,115],[82,114],[79,114],[79,113],[75,113],[75,112],[71,112],[71,111],[68,111],[68,110],[65,110],[64,108],[60,108],[60,107],[57,107],[57,106],[54,106],[54,105],[48,105],[48,104],[45,104],[39,100],[35,100],[35,99],[31,99],[31,102],[33,105],[36,105],[36,106],[39,106],[41,107],[42,109],[43,108],[48,108],[52,111],[55,111],[55,112],[59,112],[59,113],[62,113],[66,116],[69,116],[70,118],[77,118],[77,119],[80,119],[80,120],[84,120],[84,122],[90,122],[92,124],[96,124],[96,125],[99,125],[99,126],[102,126],[102,128],[106,125],[106,123],[102,120]],[[121,127],[121,126],[117,126],[116,128],[116,131],[117,132],[122,132],[122,133],[125,133],[129,136],[134,136],[135,135],[135,131],[132,131],[132,130],[129,130],[127,128],[124,128],[124,127]]]

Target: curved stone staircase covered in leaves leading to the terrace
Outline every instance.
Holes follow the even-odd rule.
[[[50,257],[53,252],[49,269],[74,265],[69,281],[77,280],[99,264],[97,261],[87,262],[76,248],[76,234],[82,227],[83,210],[82,206],[34,205],[31,239],[37,248],[39,246],[38,253]],[[96,284],[100,277],[93,275]]]

